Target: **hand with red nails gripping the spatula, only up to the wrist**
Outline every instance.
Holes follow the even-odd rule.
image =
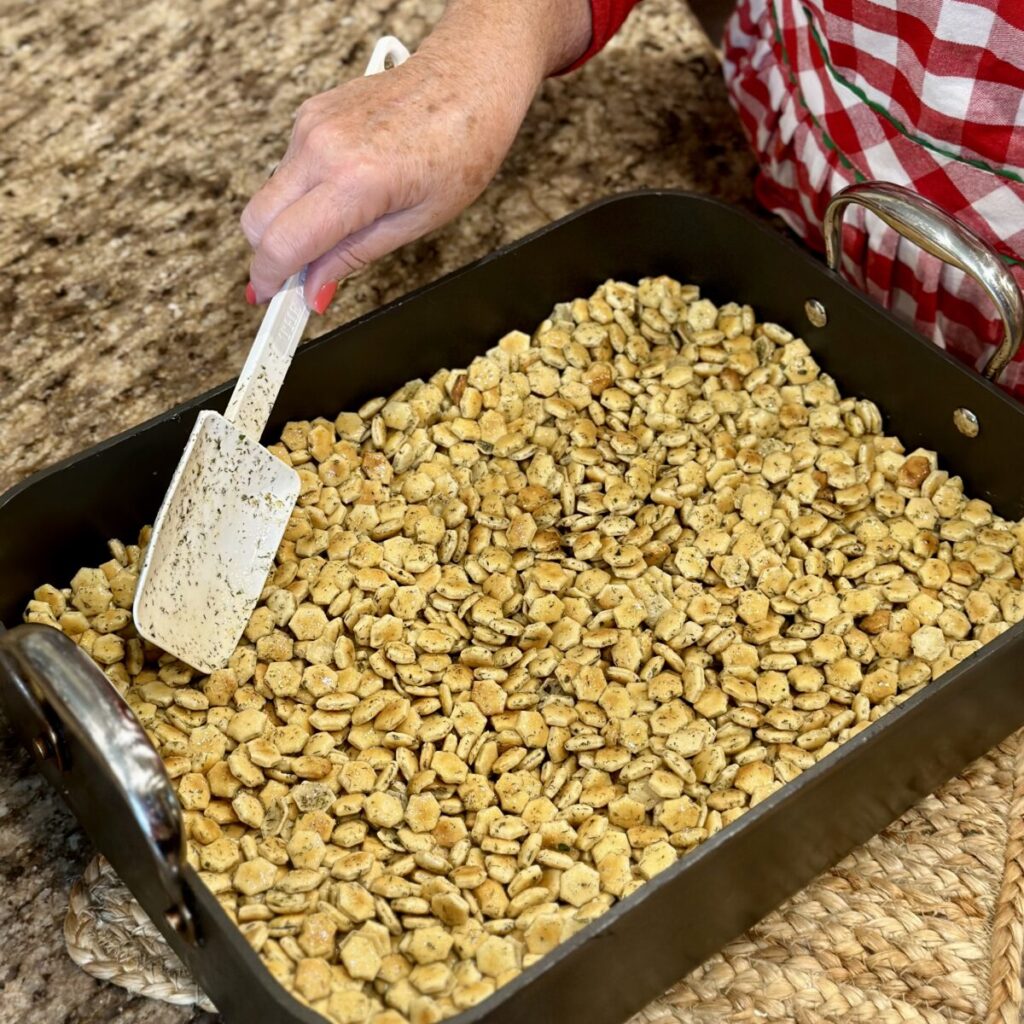
[[[258,301],[309,264],[306,299],[322,311],[340,278],[479,196],[515,138],[532,83],[514,83],[503,102],[453,71],[413,56],[302,104],[285,159],[242,215]]]

